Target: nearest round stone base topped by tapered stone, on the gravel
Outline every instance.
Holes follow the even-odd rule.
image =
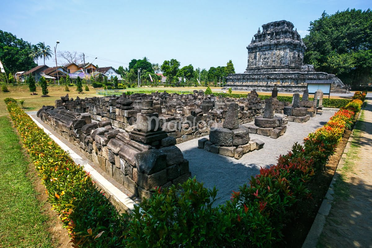
[[[238,115],[238,104],[231,103],[224,123],[214,123],[209,140],[199,139],[198,148],[235,159],[240,159],[247,152],[263,148],[264,142],[257,139],[250,141],[248,128],[239,125]]]

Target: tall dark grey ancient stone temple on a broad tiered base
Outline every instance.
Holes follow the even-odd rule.
[[[306,46],[293,28],[286,20],[262,25],[262,32],[258,29],[247,46],[246,71],[229,74],[225,88],[271,91],[277,84],[279,91],[300,92],[307,88],[306,80],[333,80],[331,90],[343,91],[345,86],[335,75],[304,64]]]

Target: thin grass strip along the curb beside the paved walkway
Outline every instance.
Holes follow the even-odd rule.
[[[351,141],[349,151],[346,154],[344,166],[337,170],[340,175],[337,178],[336,183],[334,183],[334,201],[332,205],[336,205],[338,202],[347,200],[350,197],[350,186],[349,183],[347,183],[349,178],[347,177],[347,174],[354,173],[355,163],[359,159],[359,139],[362,121],[364,120],[364,110],[361,111],[359,120],[360,121],[356,122],[353,130],[353,140]]]

